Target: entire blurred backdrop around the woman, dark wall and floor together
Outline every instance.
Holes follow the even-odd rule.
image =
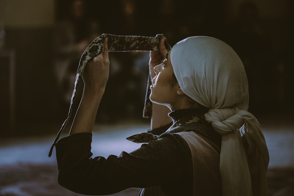
[[[0,0],[0,195],[78,195],[58,185],[55,151],[47,153],[67,117],[79,58],[102,33],[162,33],[171,45],[213,36],[232,46],[270,154],[269,195],[294,195],[293,2]],[[109,56],[92,143],[93,154],[105,157],[138,148],[124,138],[150,126],[142,118],[149,53]],[[122,195],[138,190],[116,194]]]

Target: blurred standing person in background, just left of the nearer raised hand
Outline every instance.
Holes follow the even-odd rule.
[[[86,14],[85,1],[73,0],[69,9],[69,15],[56,24],[54,31],[54,72],[61,101],[66,104],[71,99],[81,55],[101,34],[98,23]]]

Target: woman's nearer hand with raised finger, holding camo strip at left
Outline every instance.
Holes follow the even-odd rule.
[[[103,52],[98,54],[86,65],[82,77],[85,89],[104,92],[109,76],[108,40],[104,40]]]

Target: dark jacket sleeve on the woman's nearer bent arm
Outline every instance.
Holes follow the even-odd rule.
[[[178,173],[189,172],[187,143],[173,134],[164,135],[131,153],[122,151],[108,158],[91,158],[91,133],[62,138],[56,143],[58,182],[76,193],[108,195],[130,187],[158,186]]]

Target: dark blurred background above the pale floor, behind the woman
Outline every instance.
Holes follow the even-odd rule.
[[[291,0],[0,0],[2,136],[56,132],[81,53],[102,33],[162,33],[171,45],[188,36],[219,38],[244,63],[249,110],[293,117]],[[141,120],[148,53],[111,53],[110,61],[97,121]]]

